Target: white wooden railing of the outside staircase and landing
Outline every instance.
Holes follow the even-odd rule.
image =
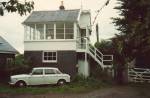
[[[85,50],[102,68],[112,67],[113,55],[104,55],[95,46],[89,43],[88,38],[78,38],[77,48]]]

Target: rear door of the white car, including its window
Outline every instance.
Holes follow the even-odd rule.
[[[45,84],[56,84],[58,81],[58,75],[54,69],[44,69],[44,82]]]

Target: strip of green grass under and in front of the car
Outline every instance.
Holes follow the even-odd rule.
[[[0,84],[0,93],[10,94],[43,94],[43,93],[83,93],[106,87],[103,83],[94,79],[79,80],[64,86],[34,86],[25,88],[10,87],[9,85]]]

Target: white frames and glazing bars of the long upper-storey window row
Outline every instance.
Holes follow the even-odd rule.
[[[54,25],[54,27],[53,28],[49,28],[49,29],[53,29],[54,30],[54,35],[53,35],[53,39],[47,39],[46,38],[46,30],[47,30],[47,26],[46,25],[48,25],[48,23],[40,23],[41,25],[43,25],[43,33],[44,33],[44,38],[43,39],[41,39],[40,38],[40,35],[37,33],[37,24],[29,24],[29,25],[25,25],[25,34],[24,34],[24,36],[25,36],[25,41],[42,41],[42,40],[72,40],[72,39],[75,39],[75,25],[74,25],[74,23],[72,23],[73,24],[73,27],[72,28],[66,28],[66,23],[64,22],[63,23],[63,28],[57,28],[57,23],[56,22],[53,22],[53,25]],[[59,23],[58,23],[59,24]],[[34,26],[34,32],[31,32],[31,26],[30,25],[33,25]],[[27,31],[29,29],[29,31]],[[57,34],[59,35],[59,33],[57,33],[57,29],[63,29],[64,31],[63,31],[63,38],[57,38]],[[73,32],[72,33],[67,33],[66,32],[66,30],[67,29],[72,29],[73,30]],[[27,34],[27,32],[29,33],[29,34]],[[66,35],[73,35],[73,38],[66,38]]]

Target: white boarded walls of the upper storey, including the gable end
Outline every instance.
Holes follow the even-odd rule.
[[[32,16],[33,17],[33,16]],[[74,21],[73,25],[73,39],[56,39],[56,24],[53,22],[54,25],[54,39],[46,39],[45,37],[45,30],[46,27],[44,25],[44,32],[43,32],[43,39],[38,40],[27,40],[25,38],[24,41],[24,50],[25,51],[40,51],[40,50],[77,50],[77,40],[79,40],[78,33],[80,32],[80,28],[86,28],[91,23],[89,11],[82,11],[80,10],[78,13],[78,17],[76,21]],[[62,21],[60,21],[62,22]],[[57,21],[59,23],[59,21]],[[65,22],[64,22],[65,23]],[[34,23],[37,24],[37,23]],[[40,23],[38,23],[40,24]],[[43,22],[41,22],[43,24]],[[45,23],[44,23],[45,24]],[[26,25],[26,24],[25,24]],[[35,26],[35,28],[37,28]],[[25,34],[26,36],[26,34]]]

